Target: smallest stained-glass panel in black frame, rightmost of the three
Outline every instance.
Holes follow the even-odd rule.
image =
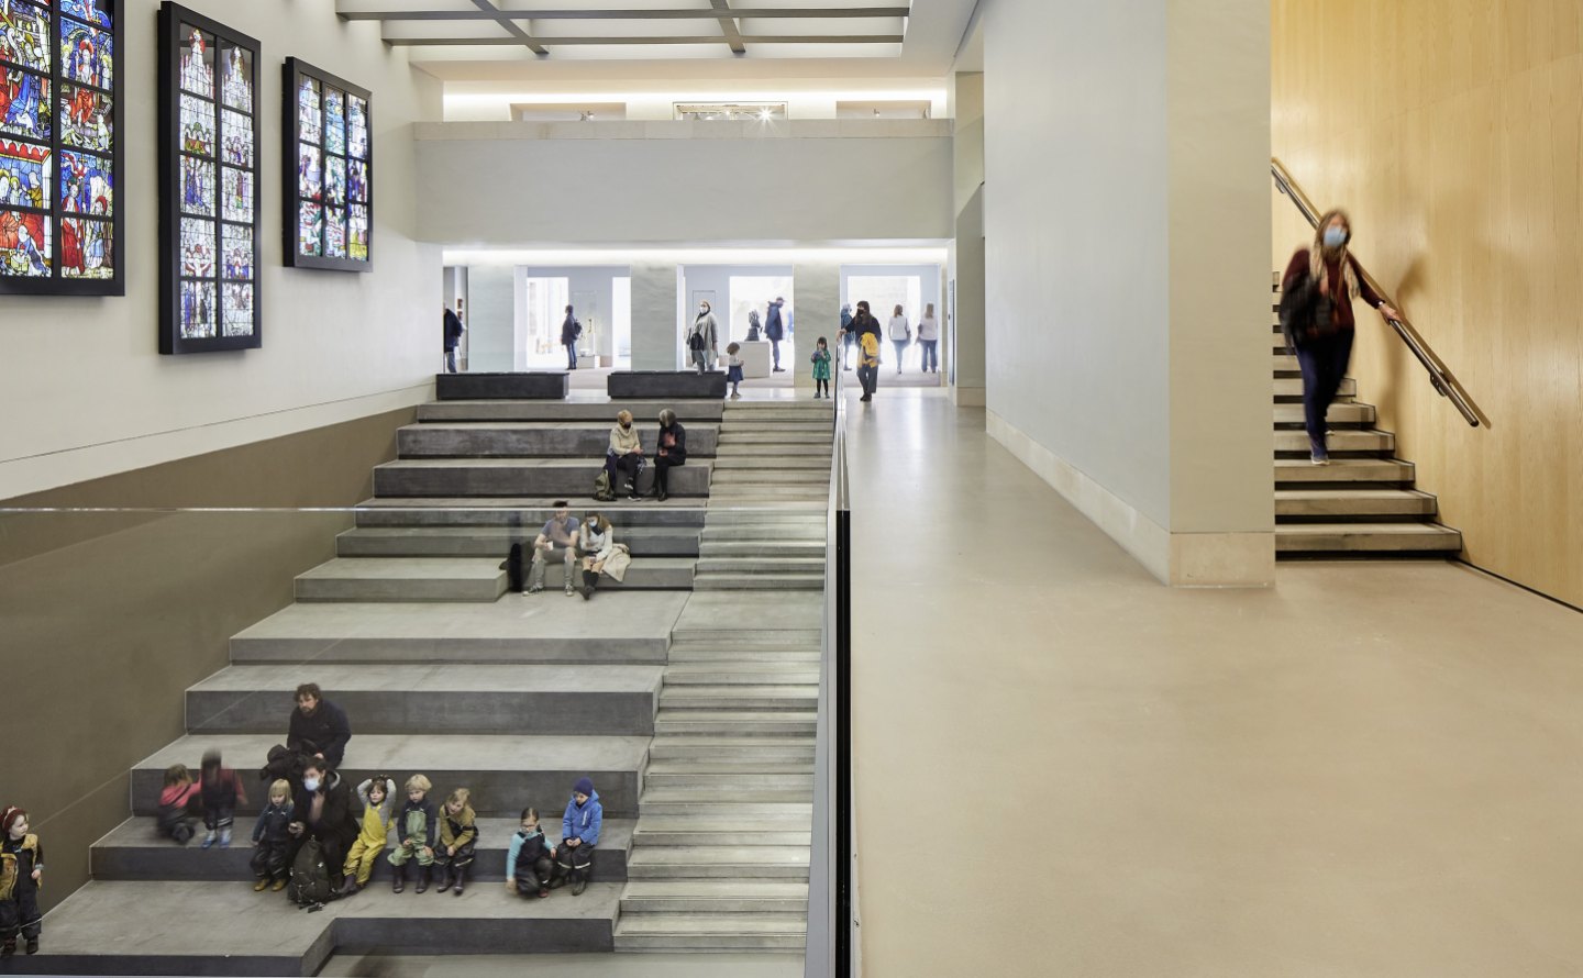
[[[367,272],[374,263],[372,97],[298,59],[285,63],[287,264]]]

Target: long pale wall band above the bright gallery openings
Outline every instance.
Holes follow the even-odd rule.
[[[945,242],[951,123],[418,128],[418,217],[456,245]]]

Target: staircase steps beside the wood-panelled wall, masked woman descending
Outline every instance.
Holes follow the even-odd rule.
[[[1281,279],[1273,282],[1279,310]],[[1455,557],[1463,536],[1437,522],[1439,505],[1415,487],[1396,437],[1374,427],[1357,381],[1342,381],[1330,407],[1330,465],[1309,461],[1303,430],[1303,375],[1273,317],[1274,487],[1277,557]]]

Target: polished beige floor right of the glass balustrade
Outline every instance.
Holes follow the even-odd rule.
[[[1583,616],[1453,563],[1170,590],[850,407],[863,973],[1583,973]]]

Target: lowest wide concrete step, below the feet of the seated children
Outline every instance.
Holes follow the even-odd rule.
[[[201,858],[211,853],[187,853]],[[279,893],[226,881],[93,880],[51,910],[43,951],[6,962],[47,975],[317,975],[337,948],[448,954],[608,953],[622,883],[524,900],[503,886],[418,897],[370,886],[307,913]]]

